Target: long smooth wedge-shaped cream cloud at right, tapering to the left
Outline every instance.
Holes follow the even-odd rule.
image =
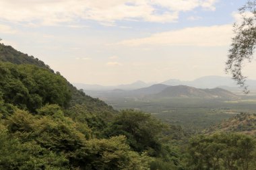
[[[124,40],[115,45],[226,46],[230,44],[232,34],[232,25],[193,27]]]

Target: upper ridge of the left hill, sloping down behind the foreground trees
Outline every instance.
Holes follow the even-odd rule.
[[[49,65],[44,64],[42,60],[34,58],[34,56],[28,56],[28,54],[24,54],[18,50],[15,50],[11,46],[5,46],[4,44],[0,44],[0,61],[11,62],[15,65],[34,65],[54,73]],[[57,73],[57,75],[59,75],[59,73]],[[62,77],[61,75],[59,76]],[[68,103],[69,106],[74,106],[77,104],[83,105],[83,107],[88,112],[100,113],[104,114],[104,116],[110,117],[110,114],[117,113],[117,111],[113,110],[113,108],[110,105],[104,103],[104,101],[92,98],[89,95],[84,94],[84,92],[79,91],[73,87],[73,85],[71,85],[71,83],[69,83],[64,77],[62,77],[62,79],[67,84],[69,91],[71,91],[71,98],[69,99]]]

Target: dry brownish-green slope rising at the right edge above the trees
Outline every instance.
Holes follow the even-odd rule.
[[[256,136],[256,114],[237,114],[229,120],[205,130],[205,133],[213,132],[238,132]]]

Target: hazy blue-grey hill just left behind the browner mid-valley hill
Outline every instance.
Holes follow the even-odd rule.
[[[135,90],[131,91],[131,93],[137,94],[137,95],[150,95],[150,94],[160,93],[161,91],[163,91],[167,87],[170,87],[170,86],[169,85],[163,85],[163,84],[156,84],[156,85],[151,85],[150,87],[135,89]]]

